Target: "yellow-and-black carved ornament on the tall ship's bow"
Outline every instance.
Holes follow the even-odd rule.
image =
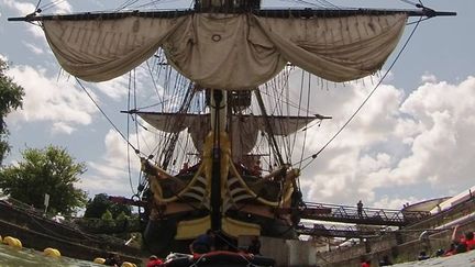
[[[220,179],[221,179],[221,214],[222,214],[222,231],[231,237],[240,235],[259,235],[261,225],[239,221],[227,216],[230,210],[240,210],[248,214],[256,214],[275,220],[286,220],[285,215],[276,218],[273,212],[274,208],[288,208],[290,207],[290,198],[294,191],[292,180],[299,176],[298,169],[289,169],[290,166],[281,166],[279,169],[272,171],[268,175],[261,177],[253,183],[247,183],[240,171],[236,169],[231,157],[231,143],[229,135],[225,132],[220,133],[219,147],[221,149],[220,159]],[[205,149],[201,164],[192,178],[185,183],[181,179],[165,175],[164,170],[156,166],[150,166],[148,160],[143,160],[144,170],[148,170],[148,179],[151,189],[154,193],[154,201],[157,205],[165,205],[166,210],[162,213],[165,216],[191,211],[191,207],[199,209],[210,210],[210,192],[212,182],[212,148],[214,146],[214,134],[210,132],[205,141]],[[151,173],[152,170],[152,173]],[[176,181],[178,190],[173,192],[173,197],[165,198],[162,182],[166,179]],[[266,199],[258,194],[258,190],[267,190],[267,182],[279,182],[281,185],[281,196],[274,196],[274,200]],[[185,183],[185,185],[184,185]],[[254,189],[254,190],[253,190]],[[255,189],[258,189],[257,191]],[[181,203],[183,198],[188,197],[195,199],[189,202],[189,209],[178,209],[176,204]],[[246,209],[246,207],[250,209]],[[251,209],[254,207],[254,209]],[[185,207],[184,207],[185,208]],[[259,211],[259,212],[253,212]],[[156,218],[158,219],[158,218]],[[159,220],[159,219],[158,219]],[[181,220],[177,224],[177,234],[175,240],[189,240],[195,238],[199,234],[205,233],[211,227],[210,215]]]

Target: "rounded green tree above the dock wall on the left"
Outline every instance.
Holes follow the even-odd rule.
[[[70,215],[85,207],[87,194],[75,188],[79,175],[86,171],[84,163],[75,163],[64,149],[48,146],[26,148],[23,160],[0,169],[0,188],[10,197],[44,209],[44,196],[49,194],[48,211]]]

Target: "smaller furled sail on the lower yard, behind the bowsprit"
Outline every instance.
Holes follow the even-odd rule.
[[[137,112],[148,124],[162,132],[177,133],[188,129],[195,147],[202,152],[203,141],[210,132],[209,114],[176,114]],[[289,135],[302,129],[316,116],[268,116],[274,135]],[[258,115],[235,114],[232,116],[232,154],[239,159],[255,146],[258,132],[266,132],[265,121]]]

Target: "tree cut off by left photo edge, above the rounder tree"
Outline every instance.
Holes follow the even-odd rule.
[[[4,118],[12,110],[22,108],[24,90],[5,75],[8,64],[0,58],[0,165],[10,152],[9,131]]]

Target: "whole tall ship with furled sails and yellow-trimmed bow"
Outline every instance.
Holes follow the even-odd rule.
[[[79,80],[111,80],[143,64],[153,85],[163,85],[155,87],[159,104],[123,113],[155,129],[153,153],[129,145],[142,163],[144,243],[164,254],[187,252],[209,229],[233,244],[239,236],[296,238],[306,209],[300,171],[317,156],[305,148],[307,130],[331,118],[311,111],[310,82],[289,86],[292,71],[322,82],[374,75],[409,16],[454,14],[419,3],[376,10],[318,2],[325,4],[196,0],[184,10],[37,10],[9,20],[38,23],[62,68]]]

